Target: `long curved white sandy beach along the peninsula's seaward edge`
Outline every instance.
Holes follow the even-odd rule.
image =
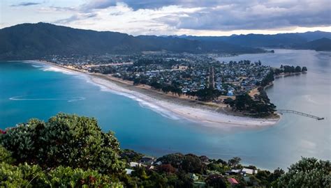
[[[57,65],[45,61],[27,61],[32,63],[41,63],[49,65],[54,68],[59,68],[66,72],[75,72],[87,76],[89,81],[94,84],[103,86],[110,89],[117,94],[126,94],[135,97],[138,101],[144,101],[149,106],[159,107],[166,111],[169,111],[179,118],[191,120],[207,127],[265,127],[274,125],[280,118],[251,118],[244,116],[234,116],[226,114],[226,111],[216,111],[215,108],[208,107],[207,105],[199,104],[199,102],[193,100],[186,100],[178,97],[172,97],[170,95],[163,95],[157,91],[151,91],[147,88],[131,86],[125,84],[122,81],[115,80],[108,75],[101,75],[98,73],[89,73],[76,70],[74,68],[68,68],[61,65]]]

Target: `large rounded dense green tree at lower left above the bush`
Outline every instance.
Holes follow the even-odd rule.
[[[105,174],[124,170],[117,157],[119,142],[112,132],[101,132],[95,118],[59,113],[47,123],[31,119],[2,134],[0,143],[12,152],[15,164],[71,166]]]

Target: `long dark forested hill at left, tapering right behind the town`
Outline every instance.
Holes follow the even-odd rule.
[[[257,53],[263,49],[223,41],[130,36],[110,31],[73,29],[54,24],[18,24],[0,29],[0,59],[31,59],[48,54],[126,54],[143,51]]]

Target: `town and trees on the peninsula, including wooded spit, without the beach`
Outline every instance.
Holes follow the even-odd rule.
[[[275,75],[307,71],[307,68],[297,70],[287,65],[271,68],[260,61],[220,62],[216,57],[215,54],[145,52],[103,56],[53,55],[45,56],[41,61],[199,102],[216,111],[221,109],[258,118],[275,115],[276,107],[264,91],[272,84]]]

